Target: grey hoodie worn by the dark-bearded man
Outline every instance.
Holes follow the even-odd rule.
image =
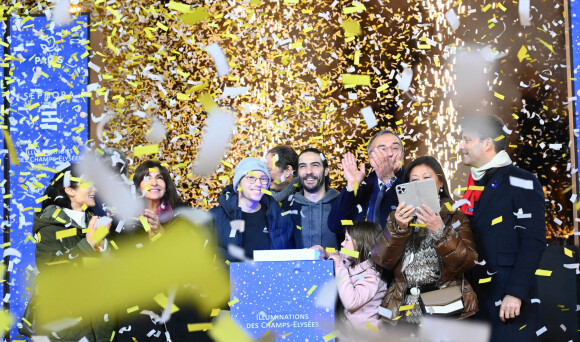
[[[295,193],[282,204],[282,212],[290,211],[292,220],[297,228],[294,230],[296,248],[309,248],[314,245],[338,248],[340,241],[328,229],[328,214],[332,203],[340,193],[335,189],[328,189],[324,197],[318,202],[311,202],[304,197],[303,192]]]

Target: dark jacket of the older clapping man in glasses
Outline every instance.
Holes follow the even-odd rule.
[[[399,205],[395,187],[403,182],[404,173],[404,168],[401,168],[397,172],[397,180],[387,190],[380,203],[379,224],[381,227],[385,227],[389,214]],[[352,220],[353,222],[365,221],[373,192],[378,190],[377,174],[374,171],[363,180],[356,196],[354,195],[354,191],[346,191],[346,187],[344,187],[336,201],[332,204],[332,209],[328,215],[328,229],[335,234],[344,234],[345,228],[342,226],[342,220]]]

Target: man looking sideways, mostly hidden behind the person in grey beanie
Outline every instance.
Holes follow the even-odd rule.
[[[270,174],[270,191],[276,202],[288,199],[296,191],[298,154],[289,146],[276,146],[266,153],[266,166]]]

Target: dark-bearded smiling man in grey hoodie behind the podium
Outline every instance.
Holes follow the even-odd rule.
[[[328,229],[328,214],[339,192],[330,188],[328,160],[316,148],[307,148],[298,156],[300,191],[282,202],[282,215],[291,215],[296,228],[296,248],[315,245],[338,248],[343,236]]]

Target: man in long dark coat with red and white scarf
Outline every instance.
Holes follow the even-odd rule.
[[[513,165],[503,123],[495,116],[461,123],[459,152],[471,166],[461,208],[471,220],[479,263],[473,287],[476,317],[492,325],[492,341],[536,341],[541,327],[536,269],[546,248],[544,192],[538,179]]]

